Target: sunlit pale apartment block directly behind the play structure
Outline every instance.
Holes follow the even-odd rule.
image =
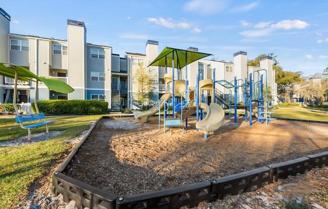
[[[189,47],[187,50],[190,51],[198,51],[198,48],[196,47]],[[130,109],[138,109],[140,108],[135,95],[136,91],[138,89],[136,77],[133,76],[135,70],[138,67],[138,63],[145,63],[146,66],[158,55],[158,42],[148,40],[146,42],[146,54],[140,54],[140,53],[131,53],[127,52],[127,60],[128,60],[128,73],[131,80],[129,85],[131,86],[129,88],[129,95],[128,96],[128,107]],[[248,66],[247,65],[247,52],[239,51],[235,54],[233,54],[233,63],[228,62],[222,62],[222,61],[216,61],[216,60],[209,60],[209,59],[201,59],[196,62],[193,62],[187,66],[187,80],[189,86],[196,86],[196,76],[199,73],[200,79],[213,79],[213,69],[215,69],[215,80],[227,80],[232,81],[236,76],[237,79],[247,78],[249,80],[250,73],[254,74],[253,79],[258,81],[258,78],[260,78],[260,75],[264,74],[264,81],[267,79],[268,87],[271,89],[272,94],[272,100],[273,104],[277,103],[277,84],[275,82],[275,70],[273,69],[273,58],[271,56],[263,57],[260,60],[260,67],[254,67],[254,66]],[[164,75],[165,75],[165,68],[164,67],[153,67],[150,66],[152,69],[149,69],[150,71],[157,72],[158,76],[158,88],[154,89],[154,96],[153,96],[153,102],[156,102],[158,98],[165,93],[165,81],[164,81]],[[257,73],[255,71],[259,69],[266,69],[265,71],[261,71],[260,73]],[[167,68],[167,73],[172,74],[172,68]],[[185,73],[186,69],[182,68],[175,69],[175,79],[185,79]],[[267,76],[265,76],[267,74]],[[228,95],[230,89],[224,88],[221,85],[216,84],[216,88],[223,92],[224,94]],[[202,92],[203,98],[202,100],[210,101],[210,95],[209,92],[204,91]],[[232,95],[234,94],[232,90]],[[243,101],[243,92],[239,89],[238,90],[238,100]],[[220,102],[220,101],[218,101]],[[222,104],[223,106],[223,104]]]

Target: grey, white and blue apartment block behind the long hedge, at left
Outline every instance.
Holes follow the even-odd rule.
[[[67,20],[67,40],[10,33],[11,17],[0,8],[0,62],[23,66],[39,76],[53,77],[74,88],[69,94],[39,85],[39,100],[92,99],[109,102],[109,108],[127,102],[127,61],[112,47],[87,43],[83,22]],[[0,77],[0,102],[13,101],[14,79]],[[35,83],[18,82],[18,99],[33,102]],[[112,107],[113,106],[113,107]]]

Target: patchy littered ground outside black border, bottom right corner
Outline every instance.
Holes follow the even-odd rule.
[[[196,208],[328,208],[328,167],[279,179],[254,192],[202,202]]]

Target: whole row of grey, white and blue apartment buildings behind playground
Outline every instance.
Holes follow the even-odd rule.
[[[34,35],[10,33],[10,15],[0,8],[0,62],[11,62],[23,66],[39,76],[53,77],[68,83],[74,88],[72,93],[63,94],[49,90],[39,84],[39,100],[47,99],[92,99],[108,101],[109,108],[119,111],[122,108],[139,109],[136,99],[138,83],[135,73],[139,64],[145,67],[158,55],[157,41],[146,42],[145,53],[126,52],[124,57],[113,53],[110,46],[87,42],[87,29],[84,22],[67,20],[67,39],[59,40]],[[195,47],[189,50],[198,51]],[[247,53],[234,54],[234,63],[202,59],[188,65],[188,82],[196,85],[196,75],[201,79],[212,78],[215,68],[216,80],[233,80],[234,76],[243,79],[259,68],[247,66]],[[276,100],[275,72],[272,57],[261,60],[260,68],[268,70],[268,83]],[[156,102],[165,93],[165,68],[150,66],[148,73],[154,78],[151,100]],[[172,69],[168,68],[168,73]],[[175,79],[184,79],[185,69],[175,69]],[[222,92],[229,90],[217,86]],[[13,101],[14,80],[0,76],[0,103]],[[19,103],[34,101],[35,83],[18,82]],[[206,97],[206,92],[204,92]],[[241,96],[240,96],[241,97]]]

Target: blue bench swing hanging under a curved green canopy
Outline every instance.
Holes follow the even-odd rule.
[[[28,130],[28,140],[31,140],[31,130],[37,129],[41,126],[46,126],[46,132],[49,134],[49,124],[52,124],[54,121],[41,121],[45,119],[45,115],[39,112],[37,98],[38,98],[38,86],[39,82],[43,82],[49,89],[52,89],[57,92],[61,93],[70,93],[73,92],[74,89],[70,87],[68,84],[54,79],[54,78],[45,78],[35,75],[33,72],[29,71],[28,69],[17,66],[11,63],[0,63],[0,75],[14,78],[14,98],[13,98],[13,105],[15,108],[16,122],[21,126],[22,129]],[[29,115],[20,115],[20,112],[17,108],[17,82],[18,80],[23,81],[31,81],[35,82],[35,100],[34,106],[36,110],[36,114],[29,114]],[[38,123],[24,125],[26,122],[32,121],[39,121]]]

